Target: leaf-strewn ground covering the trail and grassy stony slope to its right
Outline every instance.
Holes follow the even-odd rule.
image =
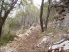
[[[7,46],[0,47],[1,52],[47,52],[48,47],[60,40],[59,35],[68,33],[53,29],[54,24],[48,25],[48,31],[41,33],[40,26],[31,27],[27,32],[19,34],[14,41],[10,41]],[[46,41],[44,37],[48,38]],[[45,42],[42,42],[45,41]],[[41,48],[37,47],[42,42]],[[44,44],[45,43],[45,44]],[[44,49],[42,48],[44,46]]]

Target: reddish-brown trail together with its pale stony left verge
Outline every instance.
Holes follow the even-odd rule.
[[[31,27],[26,33],[21,34],[17,40],[8,43],[7,46],[1,47],[1,52],[43,52],[37,48],[37,42],[41,33],[40,26]]]

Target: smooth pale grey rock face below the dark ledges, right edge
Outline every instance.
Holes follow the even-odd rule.
[[[58,20],[58,30],[69,30],[69,13],[64,16],[63,20]]]

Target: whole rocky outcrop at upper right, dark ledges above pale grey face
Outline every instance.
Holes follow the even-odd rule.
[[[55,21],[58,21],[58,30],[69,30],[69,0],[60,0],[59,3],[53,5],[57,14]]]

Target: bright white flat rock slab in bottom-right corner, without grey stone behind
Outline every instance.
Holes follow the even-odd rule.
[[[48,52],[69,52],[69,40],[49,47]]]

